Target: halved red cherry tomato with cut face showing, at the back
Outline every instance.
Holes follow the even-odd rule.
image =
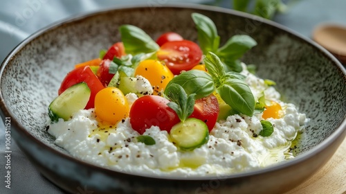
[[[163,60],[174,75],[178,75],[199,64],[202,54],[196,43],[184,39],[163,44],[157,52],[157,58]]]

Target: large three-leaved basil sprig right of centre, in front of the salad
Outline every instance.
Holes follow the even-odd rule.
[[[179,97],[179,100],[173,100],[174,103],[179,105],[182,104],[181,99],[188,98],[186,97],[188,95],[195,95],[198,99],[217,91],[222,100],[230,105],[235,112],[252,116],[255,109],[255,98],[251,89],[244,82],[244,76],[235,72],[226,72],[221,60],[211,52],[204,58],[204,63],[208,73],[199,70],[181,73],[167,85],[164,91],[165,96],[168,96],[170,100]],[[180,95],[186,96],[180,97]],[[177,114],[181,114],[181,110],[177,107],[172,107],[172,109],[176,110]]]

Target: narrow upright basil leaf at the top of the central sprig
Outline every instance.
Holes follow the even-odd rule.
[[[203,60],[204,64],[206,64],[206,69],[208,69],[208,73],[214,80],[215,87],[219,87],[221,85],[221,80],[223,80],[226,75],[224,65],[219,57],[212,52],[209,52]]]

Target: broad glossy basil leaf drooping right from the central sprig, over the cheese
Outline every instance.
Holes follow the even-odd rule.
[[[253,116],[255,98],[251,89],[242,80],[235,78],[225,80],[224,84],[217,88],[217,93],[235,111]]]

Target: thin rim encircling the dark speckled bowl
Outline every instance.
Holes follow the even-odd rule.
[[[36,38],[40,37],[41,35],[44,35],[45,33],[49,33],[52,30],[55,30],[55,28],[58,28],[60,26],[64,26],[65,24],[69,24],[71,22],[82,21],[83,19],[86,19],[88,17],[93,17],[95,15],[104,14],[105,12],[111,12],[114,10],[126,10],[126,9],[131,10],[131,9],[147,8],[147,7],[148,7],[148,5],[141,4],[141,5],[137,5],[137,6],[118,6],[118,7],[113,7],[113,8],[105,8],[105,9],[101,9],[101,10],[97,10],[97,11],[93,11],[93,12],[86,12],[83,14],[73,15],[73,16],[68,17],[66,19],[62,19],[61,21],[54,22],[53,24],[48,25],[45,28],[42,28],[41,30],[38,30],[37,32],[33,33],[32,35],[30,35],[29,37],[24,39],[24,41],[22,41],[18,46],[16,46],[7,55],[7,57],[5,58],[5,60],[3,60],[1,67],[0,67],[0,80],[3,76],[3,72],[6,69],[6,66],[8,65],[8,63],[12,60],[12,58],[15,58],[17,53],[19,53],[21,51],[21,49],[24,48],[24,46],[26,46],[27,44],[29,44],[31,41],[35,40]],[[196,9],[196,10],[208,10],[208,11],[212,11],[212,12],[223,12],[226,14],[236,15],[238,17],[244,17],[247,19],[253,19],[253,20],[262,22],[264,24],[268,24],[269,26],[273,26],[275,28],[278,28],[279,30],[282,30],[286,33],[289,33],[295,37],[298,37],[298,39],[300,39],[302,42],[305,42],[305,43],[310,44],[311,46],[317,48],[318,51],[320,51],[320,53],[325,55],[327,58],[329,58],[329,60],[331,62],[333,62],[333,65],[338,67],[338,69],[344,74],[345,80],[346,80],[346,70],[343,67],[343,65],[334,57],[334,55],[329,53],[329,51],[327,51],[325,48],[323,48],[322,46],[320,46],[316,42],[313,42],[313,40],[308,39],[307,37],[304,37],[304,36],[300,35],[299,33],[295,32],[295,31],[293,31],[293,30],[291,30],[285,26],[282,26],[281,24],[277,24],[274,21],[270,21],[268,19],[263,19],[262,17],[257,17],[255,15],[250,15],[250,14],[245,13],[245,12],[239,12],[237,10],[230,10],[228,8],[220,8],[220,7],[216,7],[216,6],[206,6],[206,5],[192,4],[192,3],[167,3],[163,6],[153,6],[153,8],[158,8],[158,9],[159,8],[190,8],[190,9]],[[8,109],[8,106],[5,103],[5,99],[3,99],[2,91],[0,91],[0,107],[1,107],[1,112],[0,112],[1,118],[3,119],[3,121],[4,121],[5,116],[15,118],[14,114],[12,114],[12,112],[10,112],[10,109]],[[55,153],[56,155],[60,155],[60,157],[64,157],[65,159],[69,159],[69,161],[73,161],[75,163],[86,166],[88,168],[94,168],[95,170],[106,171],[107,173],[114,172],[114,173],[123,173],[123,174],[127,174],[127,175],[151,177],[151,178],[157,178],[157,179],[170,179],[170,180],[174,180],[174,179],[175,180],[179,180],[179,179],[210,180],[210,179],[217,179],[220,177],[223,177],[224,179],[236,179],[236,178],[240,178],[240,177],[250,177],[253,175],[260,175],[262,173],[269,173],[269,172],[272,172],[275,170],[280,170],[283,168],[287,168],[289,166],[294,166],[296,164],[299,164],[302,161],[305,161],[305,160],[309,159],[310,157],[312,157],[313,155],[317,155],[319,152],[322,152],[322,150],[328,148],[329,145],[331,145],[331,143],[333,143],[333,141],[335,141],[336,139],[340,138],[340,136],[344,136],[344,139],[346,136],[346,118],[344,118],[343,123],[341,123],[338,126],[338,128],[332,134],[330,134],[330,136],[327,137],[327,139],[323,140],[321,143],[314,146],[313,148],[311,148],[307,152],[304,152],[304,153],[298,155],[297,157],[295,157],[294,159],[291,159],[289,161],[284,161],[284,162],[281,162],[279,164],[275,164],[273,166],[268,166],[266,168],[260,168],[257,170],[251,170],[251,171],[244,172],[244,173],[235,173],[235,174],[231,174],[231,175],[219,175],[219,176],[215,176],[215,177],[214,176],[213,177],[211,177],[211,176],[208,176],[208,177],[167,177],[167,176],[159,176],[159,175],[147,175],[147,174],[142,174],[142,173],[126,173],[126,172],[122,172],[122,171],[118,171],[118,170],[111,170],[108,168],[102,168],[100,166],[95,166],[95,165],[90,164],[86,161],[82,161],[80,159],[72,157],[71,155],[66,155],[63,152],[60,152],[58,150],[55,150],[54,148],[51,148],[50,146],[46,145],[42,141],[39,141],[39,139],[36,139],[33,135],[31,135],[28,131],[26,131],[24,129],[24,126],[21,125],[21,123],[18,123],[15,119],[11,119],[11,126],[15,127],[18,130],[18,132],[21,132],[22,135],[25,135],[26,137],[28,137],[29,139],[34,141],[37,145],[48,149],[49,151]],[[19,145],[19,148],[21,148],[20,145]]]

